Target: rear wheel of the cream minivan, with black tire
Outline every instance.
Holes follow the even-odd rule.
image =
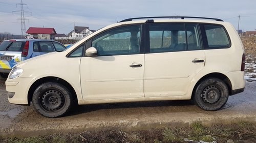
[[[215,111],[227,103],[228,97],[228,87],[222,80],[208,78],[197,86],[193,100],[198,107],[207,111]]]

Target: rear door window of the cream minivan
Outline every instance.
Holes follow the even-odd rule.
[[[150,53],[202,49],[197,24],[154,23],[149,29]]]

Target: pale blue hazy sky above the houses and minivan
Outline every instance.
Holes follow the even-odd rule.
[[[0,0],[0,33],[20,35],[20,0]],[[239,30],[256,29],[255,0],[23,0],[26,30],[54,28],[68,34],[74,26],[98,30],[117,20],[146,16],[197,16],[220,18]],[[240,22],[239,22],[240,15]]]

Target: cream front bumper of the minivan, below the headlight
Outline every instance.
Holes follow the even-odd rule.
[[[6,90],[8,92],[8,101],[12,104],[29,105],[28,91],[34,78],[14,78],[7,79]]]

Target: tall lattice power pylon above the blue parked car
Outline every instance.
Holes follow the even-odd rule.
[[[20,3],[16,4],[16,7],[17,7],[17,5],[20,5],[20,10],[12,11],[12,14],[14,14],[15,12],[16,13],[20,13],[20,18],[17,18],[17,21],[20,20],[20,26],[21,26],[21,31],[22,31],[22,38],[24,38],[25,37],[25,33],[26,33],[25,20],[28,20],[28,19],[25,18],[24,13],[31,13],[31,15],[32,15],[32,12],[24,11],[23,6],[26,5],[27,8],[28,8],[28,5],[24,4],[22,2],[22,0],[20,0]]]

